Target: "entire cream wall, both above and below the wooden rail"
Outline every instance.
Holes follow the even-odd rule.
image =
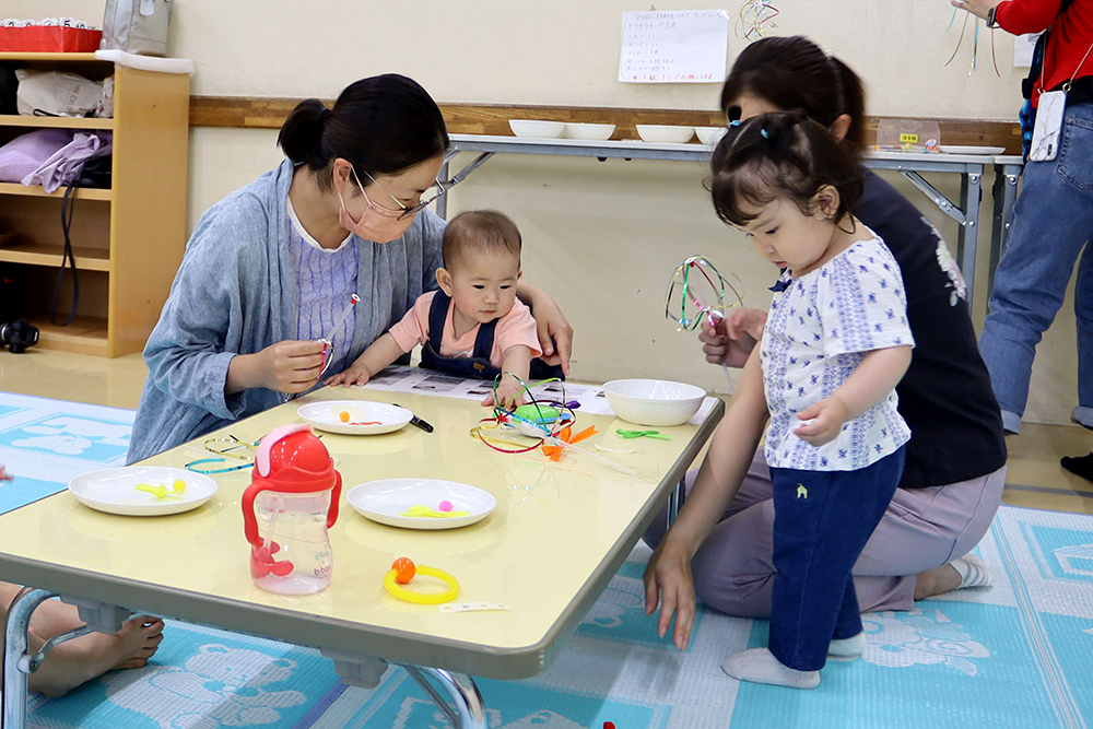
[[[727,4],[734,9],[738,0]],[[1014,116],[1023,71],[1012,69],[1012,40],[1004,33],[996,38],[1002,79],[990,70],[986,42],[974,77],[966,75],[966,49],[945,69],[959,35],[944,33],[948,3],[779,4],[779,33],[808,33],[861,73],[871,114]],[[717,3],[657,2],[659,10],[712,7]],[[619,0],[176,0],[176,8],[173,52],[197,63],[196,94],[333,97],[346,83],[385,71],[416,78],[440,102],[715,108],[719,91],[616,83],[620,12],[648,9]],[[103,0],[55,0],[49,14],[98,22],[102,9]],[[0,15],[43,12],[40,0],[4,0]],[[730,38],[730,57],[741,47]],[[210,204],[279,162],[275,138],[266,130],[191,132],[191,226]],[[657,374],[724,391],[720,369],[701,361],[695,336],[675,332],[663,318],[669,275],[686,256],[706,255],[743,279],[747,303],[765,306],[771,271],[716,220],[703,175],[687,163],[498,156],[453,191],[450,210],[497,208],[517,221],[526,239],[526,277],[556,296],[577,329],[578,376]],[[909,184],[890,179],[955,252],[955,224]],[[956,199],[953,179],[935,181]],[[980,324],[990,181],[984,180],[979,233]],[[1074,350],[1071,292],[1041,345],[1030,420],[1068,421],[1076,399]]]

